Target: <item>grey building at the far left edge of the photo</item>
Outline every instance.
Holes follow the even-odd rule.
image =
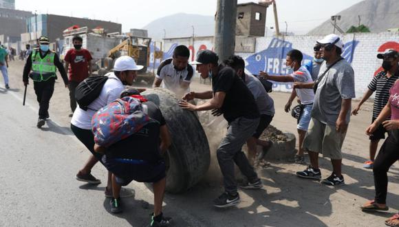
[[[0,6],[4,1],[0,0]],[[32,12],[0,8],[1,43],[16,43],[21,41],[21,33],[27,32],[26,19],[32,17]]]

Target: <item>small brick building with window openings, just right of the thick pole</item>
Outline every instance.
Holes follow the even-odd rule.
[[[266,6],[257,3],[237,5],[237,36],[265,36]]]

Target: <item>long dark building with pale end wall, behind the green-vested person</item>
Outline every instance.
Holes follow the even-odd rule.
[[[38,39],[41,35],[48,36],[50,41],[63,39],[63,31],[73,25],[78,25],[79,27],[87,27],[89,30],[92,30],[94,28],[103,28],[104,32],[107,33],[122,32],[122,25],[120,23],[114,23],[111,21],[65,17],[54,14],[38,14],[30,17],[26,21],[28,33],[21,34],[21,36],[23,36],[22,42],[28,43],[30,41],[34,41]]]

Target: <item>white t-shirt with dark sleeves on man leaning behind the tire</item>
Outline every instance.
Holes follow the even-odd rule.
[[[173,58],[162,61],[158,67],[156,78],[162,80],[162,87],[171,91],[180,91],[182,82],[191,83],[193,78],[193,66],[187,65],[182,71],[177,71],[173,65]],[[190,91],[188,88],[186,92]]]

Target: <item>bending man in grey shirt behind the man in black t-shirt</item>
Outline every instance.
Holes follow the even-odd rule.
[[[273,119],[274,101],[268,95],[265,87],[263,87],[261,81],[258,78],[252,75],[245,74],[245,62],[243,58],[237,55],[233,55],[230,56],[230,58],[228,58],[223,63],[224,65],[235,69],[235,72],[237,72],[237,76],[239,76],[244,81],[248,89],[250,89],[252,95],[255,98],[255,101],[257,102],[259,114],[261,114],[257,131],[255,131],[252,137],[249,138],[246,142],[248,147],[248,161],[251,165],[253,165],[255,162],[255,155],[257,153],[257,145],[263,148],[263,153],[258,156],[259,158],[263,158],[268,149],[270,149],[270,147],[272,146],[271,141],[259,140],[259,137],[261,136],[263,131],[270,125],[270,122]],[[242,187],[245,188],[246,186]]]

